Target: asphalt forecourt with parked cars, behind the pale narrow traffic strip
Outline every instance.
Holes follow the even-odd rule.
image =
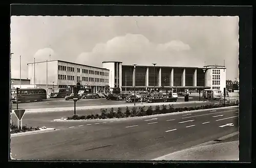
[[[190,97],[190,101],[199,100],[199,97]],[[177,101],[184,101],[184,98],[178,98]],[[76,106],[95,106],[95,105],[114,105],[114,104],[125,104],[125,101],[115,101],[115,100],[106,100],[105,98],[100,99],[80,99],[76,102]],[[131,104],[131,103],[127,103]],[[140,104],[140,103],[136,103]],[[18,108],[20,109],[33,109],[33,108],[55,108],[55,107],[73,107],[73,100],[65,100],[64,98],[50,99],[47,101],[41,102],[28,102],[28,103],[19,103]],[[16,104],[12,104],[12,109],[17,109]]]

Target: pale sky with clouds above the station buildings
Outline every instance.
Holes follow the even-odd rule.
[[[28,77],[27,63],[63,60],[102,67],[224,65],[238,77],[238,16],[12,16],[11,75]],[[49,55],[51,54],[51,58]]]

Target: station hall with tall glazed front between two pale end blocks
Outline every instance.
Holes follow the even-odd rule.
[[[110,70],[109,85],[122,91],[156,91],[185,89],[218,89],[226,87],[225,66],[171,67],[122,65],[122,62],[102,62],[103,68]],[[205,78],[204,71],[205,69]],[[155,76],[155,77],[154,77]],[[154,80],[155,78],[155,80]]]

